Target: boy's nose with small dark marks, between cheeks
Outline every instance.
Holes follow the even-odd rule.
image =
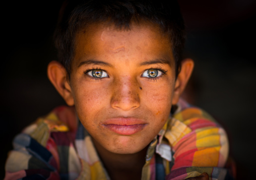
[[[110,102],[112,108],[129,111],[140,106],[137,80],[124,77],[116,80],[113,84],[114,91]]]

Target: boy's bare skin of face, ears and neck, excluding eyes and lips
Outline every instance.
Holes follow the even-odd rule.
[[[91,25],[86,34],[77,34],[74,55],[70,77],[58,62],[49,64],[50,81],[68,105],[75,105],[111,179],[140,179],[147,146],[177,103],[193,61],[182,62],[175,80],[171,44],[145,24],[127,31]],[[92,77],[95,69],[105,77]],[[159,76],[149,77],[149,69]],[[113,118],[135,119],[143,126],[132,134],[116,133],[105,126]]]

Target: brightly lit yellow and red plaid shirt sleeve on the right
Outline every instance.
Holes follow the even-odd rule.
[[[218,123],[204,111],[187,108],[174,115],[166,138],[174,152],[174,164],[167,179],[185,179],[207,172],[210,179],[227,179],[224,168],[228,138]]]

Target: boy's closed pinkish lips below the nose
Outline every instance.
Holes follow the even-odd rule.
[[[113,118],[108,119],[102,125],[120,135],[132,135],[143,130],[147,123],[136,118]]]

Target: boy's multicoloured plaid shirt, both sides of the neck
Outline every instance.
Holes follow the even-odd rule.
[[[150,143],[142,179],[184,179],[207,172],[227,179],[228,139],[206,112],[180,100]],[[15,137],[5,179],[110,179],[74,107],[55,108]]]

